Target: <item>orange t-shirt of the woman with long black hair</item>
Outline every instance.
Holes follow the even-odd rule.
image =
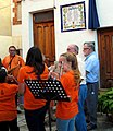
[[[37,76],[35,73],[29,73],[33,71],[33,67],[29,66],[24,66],[21,68],[20,72],[18,72],[18,82],[20,83],[24,83],[24,80],[37,80]],[[42,80],[47,80],[48,79],[48,68],[45,68],[43,73],[40,75],[40,78]],[[25,109],[38,109],[41,108],[42,106],[46,105],[46,100],[45,99],[35,99],[35,97],[33,96],[32,92],[29,91],[28,86],[26,86],[25,88],[25,93],[24,93],[24,108]]]

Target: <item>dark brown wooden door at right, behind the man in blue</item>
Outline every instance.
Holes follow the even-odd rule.
[[[98,29],[100,87],[113,87],[113,27]]]

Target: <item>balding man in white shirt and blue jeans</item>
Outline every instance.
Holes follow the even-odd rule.
[[[71,44],[67,47],[67,52],[73,52],[76,56],[79,52],[79,47],[75,44]],[[84,104],[87,97],[87,85],[86,85],[86,72],[85,72],[85,62],[77,56],[78,68],[81,74],[81,82],[79,87],[79,98],[78,98],[78,109],[79,112],[75,119],[75,127],[77,131],[87,131],[86,118],[84,112]]]

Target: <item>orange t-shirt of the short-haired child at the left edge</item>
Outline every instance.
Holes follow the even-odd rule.
[[[0,83],[0,121],[11,121],[17,117],[15,94],[18,86]]]

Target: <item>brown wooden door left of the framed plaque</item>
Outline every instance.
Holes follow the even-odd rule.
[[[34,44],[45,55],[47,66],[51,66],[55,61],[54,41],[53,11],[34,14]]]

